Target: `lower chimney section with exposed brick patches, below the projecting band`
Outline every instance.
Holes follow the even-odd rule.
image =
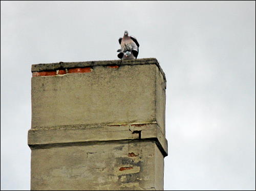
[[[150,140],[32,149],[31,189],[162,190],[158,152]]]

